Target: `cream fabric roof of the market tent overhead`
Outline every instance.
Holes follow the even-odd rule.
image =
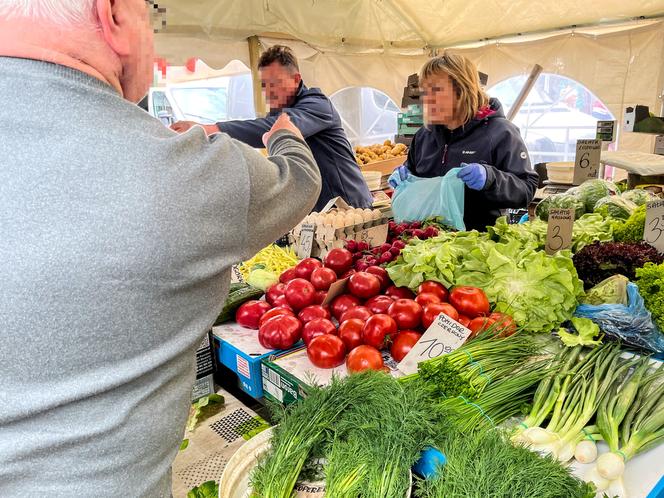
[[[662,0],[161,0],[166,31],[278,33],[320,51],[408,53],[519,33],[664,15]]]

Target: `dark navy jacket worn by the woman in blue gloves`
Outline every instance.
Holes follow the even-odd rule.
[[[425,178],[444,176],[461,163],[484,165],[484,189],[466,187],[464,221],[468,230],[484,231],[495,223],[500,209],[527,207],[538,184],[519,129],[505,118],[497,99],[491,99],[490,107],[493,114],[455,130],[441,125],[420,128],[406,162],[411,173]]]

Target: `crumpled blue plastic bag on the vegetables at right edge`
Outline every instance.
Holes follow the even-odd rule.
[[[649,353],[664,351],[664,334],[652,321],[636,284],[627,284],[627,306],[623,304],[581,304],[574,315],[590,318],[608,338]]]

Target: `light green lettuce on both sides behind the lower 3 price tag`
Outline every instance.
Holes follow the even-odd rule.
[[[532,243],[538,249],[544,250],[546,244],[547,224],[542,220],[532,220],[518,225],[507,223],[502,216],[496,224],[487,227],[491,238],[497,242],[509,242],[517,239],[524,245]],[[613,223],[599,214],[584,214],[574,222],[572,231],[571,251],[577,252],[593,242],[613,241]]]

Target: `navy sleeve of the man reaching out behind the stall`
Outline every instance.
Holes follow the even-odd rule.
[[[332,103],[329,100],[304,98],[294,107],[284,109],[291,121],[297,126],[304,138],[323,131],[332,124]],[[219,129],[232,138],[240,140],[252,147],[263,147],[263,133],[272,128],[279,116],[249,121],[225,121],[217,123]]]

